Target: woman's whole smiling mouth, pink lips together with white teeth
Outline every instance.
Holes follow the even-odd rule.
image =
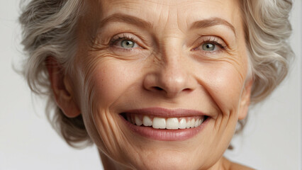
[[[125,124],[144,137],[154,140],[186,140],[196,135],[208,120],[199,111],[144,108],[120,114]]]

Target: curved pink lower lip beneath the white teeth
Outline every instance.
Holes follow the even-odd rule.
[[[120,115],[123,122],[127,125],[130,130],[141,135],[143,137],[150,138],[152,140],[162,140],[162,141],[181,141],[181,140],[188,140],[191,137],[194,137],[201,132],[203,128],[207,125],[208,120],[207,118],[201,125],[196,128],[189,128],[189,129],[177,129],[177,130],[167,130],[167,129],[155,129],[152,127],[145,127],[145,126],[137,126],[133,125],[132,123],[128,122]]]

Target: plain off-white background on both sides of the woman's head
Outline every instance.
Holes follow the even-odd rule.
[[[52,130],[43,99],[13,71],[21,58],[18,0],[0,0],[0,170],[102,169],[96,147],[69,147]],[[243,135],[225,156],[255,169],[301,169],[301,1],[291,13],[296,53],[289,77],[261,106],[252,108]]]

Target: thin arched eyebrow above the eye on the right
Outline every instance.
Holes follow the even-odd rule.
[[[190,29],[198,29],[198,28],[207,28],[211,26],[217,26],[217,25],[224,25],[233,30],[234,34],[236,35],[236,29],[235,27],[230,24],[228,21],[225,21],[222,18],[209,18],[201,21],[195,21]]]

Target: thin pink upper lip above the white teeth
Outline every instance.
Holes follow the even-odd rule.
[[[142,114],[142,115],[154,115],[158,117],[186,117],[186,116],[198,116],[198,115],[205,115],[201,111],[184,109],[184,108],[177,108],[177,109],[167,109],[167,108],[140,108],[140,109],[133,109],[129,111],[125,111],[123,113],[135,113],[135,114]]]

